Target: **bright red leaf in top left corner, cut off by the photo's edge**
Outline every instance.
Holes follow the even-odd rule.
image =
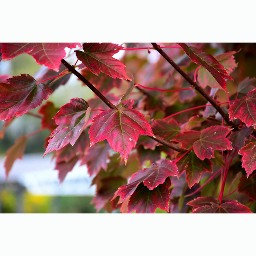
[[[65,48],[81,46],[79,43],[1,43],[2,58],[9,60],[19,54],[31,55],[38,64],[59,71],[60,60],[66,55]]]

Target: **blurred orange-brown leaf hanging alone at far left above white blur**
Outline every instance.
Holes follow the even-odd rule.
[[[14,145],[12,145],[6,152],[6,159],[5,159],[5,175],[6,178],[11,171],[12,165],[14,164],[16,159],[22,159],[23,153],[25,151],[27,142],[27,137],[25,135],[21,135],[15,140]]]

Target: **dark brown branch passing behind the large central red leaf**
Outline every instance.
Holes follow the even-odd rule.
[[[73,73],[77,78],[79,78],[82,82],[84,82],[103,102],[106,103],[108,107],[110,107],[112,110],[117,110],[117,107],[114,106],[104,95],[101,94],[100,91],[98,91],[84,76],[82,76],[74,66],[71,66],[68,62],[66,62],[64,59],[61,60],[62,64],[71,72]],[[148,136],[151,139],[154,139],[155,141],[175,150],[175,151],[183,151],[182,148],[179,148],[175,146],[174,144],[167,142],[166,140],[163,140],[159,137],[153,137],[153,136]]]

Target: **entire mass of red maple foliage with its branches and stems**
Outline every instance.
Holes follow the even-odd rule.
[[[0,74],[0,138],[23,115],[41,122],[6,151],[6,177],[47,130],[42,157],[60,183],[84,166],[97,212],[255,213],[256,78],[239,65],[243,47],[219,45],[1,43],[0,62],[25,53],[43,65]],[[94,96],[56,107],[49,97],[71,76]]]

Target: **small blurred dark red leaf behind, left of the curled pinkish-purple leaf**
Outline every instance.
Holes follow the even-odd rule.
[[[39,110],[38,113],[43,115],[41,125],[43,129],[54,130],[57,124],[52,119],[59,111],[59,108],[55,107],[53,102],[47,101]]]

